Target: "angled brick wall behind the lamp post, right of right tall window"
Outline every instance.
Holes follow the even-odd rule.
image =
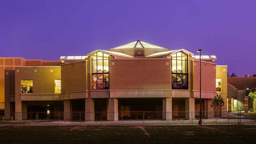
[[[193,62],[193,61],[192,61]],[[216,91],[216,65],[214,63],[201,62],[201,89],[202,91]],[[199,61],[193,62],[192,89],[200,90]]]

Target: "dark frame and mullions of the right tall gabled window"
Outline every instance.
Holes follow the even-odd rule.
[[[177,53],[181,53],[181,59],[177,59]],[[189,69],[188,69],[188,54],[184,53],[183,51],[180,51],[180,52],[177,52],[175,53],[176,54],[176,59],[173,59],[173,54],[171,55],[171,60],[172,60],[172,63],[173,63],[173,60],[176,61],[176,72],[173,72],[172,70],[172,67],[171,66],[171,74],[172,74],[172,89],[186,89],[188,90],[189,89],[189,77],[188,77],[188,73],[189,73]],[[183,60],[183,54],[187,57],[187,60]],[[178,73],[178,61],[181,61],[181,73]],[[186,64],[186,69],[187,69],[187,73],[182,73],[183,72],[183,61],[186,61],[187,64]],[[176,79],[173,80],[173,75],[176,74]],[[186,75],[187,76],[187,81],[183,81],[183,75]],[[181,78],[181,88],[178,88],[178,81],[177,81],[177,77],[180,77]],[[180,82],[179,82],[180,83]],[[174,88],[174,84],[176,84],[176,88]],[[183,88],[183,84],[186,88]]]

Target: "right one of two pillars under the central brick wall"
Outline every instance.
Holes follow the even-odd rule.
[[[172,120],[172,98],[171,97],[163,98],[163,119]]]

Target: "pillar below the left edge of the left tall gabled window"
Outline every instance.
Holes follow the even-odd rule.
[[[85,99],[85,121],[94,121],[94,99]]]

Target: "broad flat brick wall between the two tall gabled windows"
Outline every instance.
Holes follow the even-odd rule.
[[[109,65],[110,89],[171,89],[171,59],[112,59]]]

